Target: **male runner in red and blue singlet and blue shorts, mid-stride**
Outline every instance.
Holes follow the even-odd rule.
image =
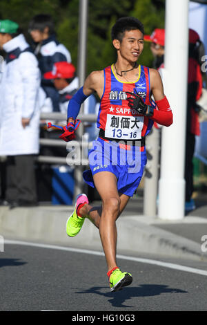
[[[134,17],[119,19],[112,27],[112,44],[117,50],[117,62],[102,71],[93,71],[86,78],[83,87],[70,100],[68,124],[61,137],[66,141],[73,138],[81,103],[96,92],[101,99],[97,117],[99,138],[90,151],[90,170],[83,172],[83,178],[96,187],[102,205],[92,207],[86,194],[80,194],[75,211],[67,221],[66,231],[68,236],[77,235],[86,217],[99,228],[110,288],[116,291],[132,282],[132,275],[121,272],[117,266],[116,219],[140,183],[146,165],[145,137],[153,121],[170,126],[172,111],[159,73],[137,64],[144,48],[144,26],[141,22]],[[150,100],[151,94],[156,106]],[[121,144],[119,140],[122,140]],[[110,149],[112,152],[117,149],[116,164],[112,162]],[[139,155],[136,156],[137,149]],[[96,164],[92,161],[95,153],[99,157],[103,153],[108,163],[100,164],[97,160]],[[135,171],[129,170],[128,156],[135,156],[136,163],[139,160],[139,168]]]

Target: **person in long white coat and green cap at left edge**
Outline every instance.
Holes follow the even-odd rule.
[[[39,153],[38,62],[14,21],[0,20],[6,52],[0,83],[0,156],[7,156],[6,201],[36,205],[34,159]]]

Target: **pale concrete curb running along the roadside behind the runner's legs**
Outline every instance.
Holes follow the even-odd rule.
[[[45,207],[0,210],[0,234],[4,239],[38,241],[102,250],[99,230],[86,219],[83,229],[73,238],[66,234],[66,221],[72,207],[63,210]],[[117,220],[117,252],[161,254],[164,257],[182,257],[207,261],[201,245],[166,230],[141,223],[137,216],[121,216]]]

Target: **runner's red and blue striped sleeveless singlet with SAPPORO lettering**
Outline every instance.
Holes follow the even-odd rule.
[[[130,109],[126,91],[135,93],[148,105],[150,101],[149,68],[139,65],[139,77],[136,82],[121,82],[115,76],[114,65],[104,70],[104,89],[99,106],[97,127],[105,131],[106,138],[120,140],[140,140],[150,131],[153,121]],[[129,95],[128,95],[129,97]]]

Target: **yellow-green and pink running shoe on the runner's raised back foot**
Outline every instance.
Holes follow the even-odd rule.
[[[66,232],[68,236],[76,236],[82,228],[83,222],[85,221],[84,217],[77,215],[77,208],[81,203],[88,203],[88,198],[86,194],[79,194],[76,198],[75,210],[69,216],[66,223]]]

